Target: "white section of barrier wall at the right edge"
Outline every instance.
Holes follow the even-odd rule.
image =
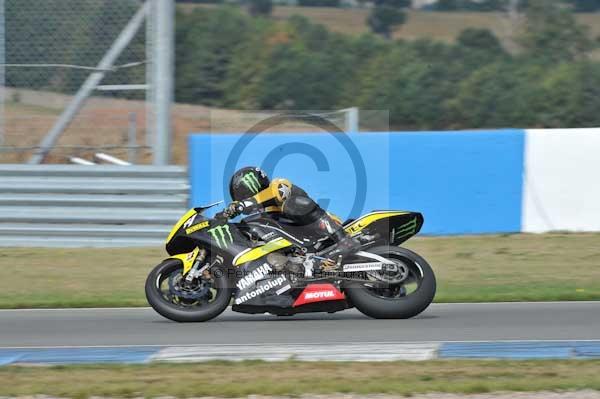
[[[600,128],[528,130],[524,232],[600,231]]]

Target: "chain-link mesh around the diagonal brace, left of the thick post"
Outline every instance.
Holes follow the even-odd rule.
[[[109,68],[99,67],[143,6],[140,0],[0,0],[0,162],[26,162],[94,73],[104,76],[46,161],[91,159],[103,150],[149,160],[149,19]]]

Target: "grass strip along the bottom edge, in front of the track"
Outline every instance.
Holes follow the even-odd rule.
[[[242,397],[600,390],[600,361],[278,362],[0,368],[0,396]]]

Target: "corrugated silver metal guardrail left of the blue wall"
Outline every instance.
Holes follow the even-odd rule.
[[[160,246],[188,191],[178,166],[0,165],[0,246]]]

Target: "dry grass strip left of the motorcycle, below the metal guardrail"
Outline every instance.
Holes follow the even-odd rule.
[[[147,306],[161,249],[0,249],[0,307]]]

